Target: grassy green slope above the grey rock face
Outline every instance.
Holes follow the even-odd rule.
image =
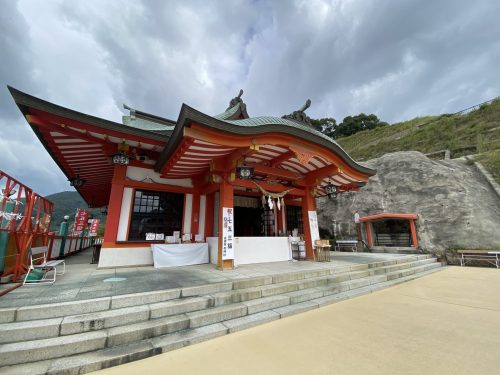
[[[500,183],[500,99],[466,114],[418,117],[337,142],[358,161],[409,150],[425,154],[450,150],[452,158],[479,154],[476,160]]]

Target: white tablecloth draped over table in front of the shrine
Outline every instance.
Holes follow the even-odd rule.
[[[208,244],[151,245],[155,268],[208,263]]]

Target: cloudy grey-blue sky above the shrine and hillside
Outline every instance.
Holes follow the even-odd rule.
[[[120,122],[123,104],[177,119],[253,116],[307,99],[312,118],[395,123],[500,96],[491,0],[0,0],[0,169],[42,195],[71,190],[11,85]]]

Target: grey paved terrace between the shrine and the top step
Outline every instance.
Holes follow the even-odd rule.
[[[140,293],[320,268],[341,269],[352,264],[373,263],[400,256],[404,255],[336,252],[330,263],[260,263],[226,271],[219,271],[211,264],[162,269],[126,267],[98,270],[97,265],[90,264],[92,251],[89,249],[66,259],[66,273],[58,277],[55,284],[25,285],[17,288],[0,297],[0,308]],[[113,281],[116,278],[121,281]],[[9,286],[12,284],[0,285],[0,290]]]

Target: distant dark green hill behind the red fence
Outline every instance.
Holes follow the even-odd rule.
[[[45,198],[54,203],[54,212],[52,215],[52,221],[50,228],[53,231],[59,229],[59,225],[63,221],[65,215],[69,215],[69,222],[73,223],[75,221],[75,214],[77,208],[87,209],[87,203],[80,197],[76,191],[63,191],[61,193],[56,193],[48,195]],[[100,209],[91,210],[91,214],[95,219],[100,219],[101,223],[105,223],[106,216],[101,214]]]

